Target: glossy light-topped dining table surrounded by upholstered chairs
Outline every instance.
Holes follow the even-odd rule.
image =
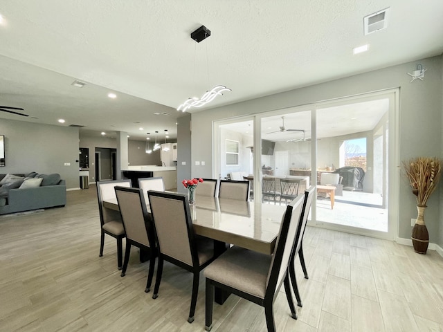
[[[117,199],[103,201],[103,208],[118,211]],[[210,196],[195,196],[190,205],[195,234],[214,240],[215,255],[229,246],[239,246],[271,255],[275,248],[286,205],[261,201],[239,201]],[[150,212],[149,203],[147,211]],[[215,302],[223,304],[228,295],[215,293]]]

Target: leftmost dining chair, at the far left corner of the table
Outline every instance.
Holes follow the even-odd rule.
[[[123,238],[126,237],[125,228],[118,211],[103,208],[103,201],[116,199],[114,187],[131,187],[131,180],[97,181],[98,212],[100,214],[100,254],[103,256],[105,247],[105,234],[115,237],[117,240],[117,266],[118,270],[123,267]]]

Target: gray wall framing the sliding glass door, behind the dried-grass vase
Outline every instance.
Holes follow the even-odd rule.
[[[417,64],[426,68],[424,81],[410,83],[407,73]],[[298,73],[294,73],[294,80]],[[224,107],[192,113],[192,160],[207,160],[206,166],[192,165],[192,175],[212,174],[213,121],[273,111],[285,107],[312,104],[351,95],[399,88],[399,158],[416,156],[442,157],[442,56],[419,59],[388,68],[362,73],[301,89],[277,93],[262,98],[230,104]],[[235,93],[235,91],[233,91]],[[441,187],[442,183],[440,183]],[[390,188],[392,189],[392,188]],[[425,221],[431,243],[443,246],[443,225],[440,213],[440,190],[428,201]],[[417,216],[415,196],[404,178],[399,181],[399,227],[397,237],[410,239],[410,219]],[[439,236],[440,234],[440,236]]]

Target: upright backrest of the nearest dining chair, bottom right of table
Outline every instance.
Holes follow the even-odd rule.
[[[266,288],[269,288],[271,286],[270,289],[275,289],[275,291],[278,291],[281,283],[283,282],[284,276],[287,273],[293,243],[295,243],[296,241],[296,235],[298,225],[300,223],[300,214],[302,212],[302,203],[304,198],[304,195],[300,195],[296,199],[291,201],[289,205],[287,205],[287,210],[282,217],[282,223],[280,225],[277,242],[275,243],[271,266],[269,267],[269,273],[266,279]],[[286,230],[283,229],[283,226],[284,220],[287,218],[290,218],[291,221],[286,232]],[[270,285],[269,282],[274,282],[276,284]]]

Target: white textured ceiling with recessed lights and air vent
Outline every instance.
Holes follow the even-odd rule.
[[[388,28],[364,36],[363,17],[387,7]],[[233,91],[210,107],[440,55],[442,14],[441,0],[1,1],[0,104],[37,119],[0,118],[175,134],[179,104],[216,84]]]

